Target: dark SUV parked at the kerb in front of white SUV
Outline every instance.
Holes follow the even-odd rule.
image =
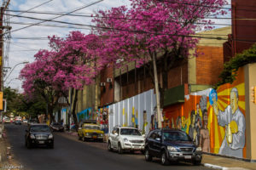
[[[197,147],[189,135],[178,129],[155,129],[145,140],[145,159],[159,157],[162,165],[170,161],[192,161],[201,164],[201,147]]]

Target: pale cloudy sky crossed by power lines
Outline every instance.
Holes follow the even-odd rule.
[[[6,1],[6,0],[5,0]],[[9,10],[20,10],[26,11],[33,8],[31,11],[35,12],[46,12],[46,13],[63,13],[67,14],[72,12],[75,9],[79,9],[72,14],[95,14],[96,11],[100,9],[108,9],[112,7],[118,7],[120,5],[129,6],[129,0],[10,0]],[[1,1],[2,3],[3,1]],[[100,3],[96,3],[100,2]],[[43,4],[44,3],[44,4]],[[90,5],[91,3],[96,3],[91,5],[90,7],[86,7],[86,5]],[[230,0],[228,1],[230,4]],[[43,4],[43,5],[41,5]],[[41,6],[39,6],[41,5]],[[38,7],[39,6],[39,7]],[[35,8],[37,7],[37,8]],[[84,8],[83,8],[84,7]],[[230,13],[230,12],[229,12]],[[32,13],[23,13],[20,14],[18,12],[9,12],[11,15],[21,15],[26,17],[33,17],[39,19],[52,19],[59,15],[49,15],[49,14],[32,14]],[[88,34],[90,30],[88,27],[81,28],[72,28],[72,26],[68,26],[67,24],[59,24],[54,22],[44,22],[41,25],[44,26],[31,26],[24,29],[24,24],[35,24],[40,22],[40,20],[32,20],[24,17],[13,17],[10,15],[9,23],[12,27],[11,29],[11,39],[8,53],[8,60],[5,60],[4,67],[8,72],[6,76],[3,77],[4,86],[18,89],[22,92],[21,81],[18,79],[20,70],[24,67],[25,64],[21,64],[23,62],[33,62],[34,54],[38,52],[39,49],[48,49],[48,39],[46,37],[56,35],[58,37],[66,37],[70,31],[79,30],[84,34]],[[230,14],[228,14],[230,15]],[[224,17],[224,16],[222,16]],[[55,20],[70,22],[70,23],[79,23],[79,24],[87,24],[92,25],[90,22],[90,17],[81,17],[81,16],[61,16]],[[230,24],[230,20],[216,20],[216,24]],[[55,27],[55,26],[65,26],[65,27]],[[219,27],[219,26],[217,26]],[[17,30],[20,29],[20,30]],[[16,31],[17,30],[17,31]],[[38,39],[40,37],[41,39]],[[32,39],[33,38],[33,39]],[[7,44],[7,43],[5,43]],[[6,50],[7,51],[7,50]],[[9,69],[7,68],[9,67]],[[8,78],[7,78],[8,77]]]

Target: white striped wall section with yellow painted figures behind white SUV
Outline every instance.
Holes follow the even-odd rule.
[[[153,89],[109,105],[109,110],[113,112],[109,115],[108,130],[111,131],[114,126],[129,126],[137,127],[143,134],[147,134],[152,129],[151,118],[154,115],[154,106],[155,96]]]

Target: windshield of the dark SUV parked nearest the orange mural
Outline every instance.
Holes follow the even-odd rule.
[[[164,132],[164,140],[171,141],[191,141],[189,135],[184,132]]]

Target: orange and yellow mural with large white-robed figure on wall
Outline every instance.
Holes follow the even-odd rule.
[[[166,107],[164,113],[164,126],[176,127],[188,133],[204,152],[246,157],[242,68],[232,84],[186,95],[184,103]]]

